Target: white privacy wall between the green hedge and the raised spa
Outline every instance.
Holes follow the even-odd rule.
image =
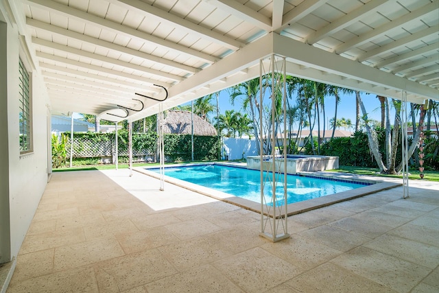
[[[229,160],[246,159],[247,156],[257,156],[259,145],[254,139],[233,139],[224,137],[222,157]]]

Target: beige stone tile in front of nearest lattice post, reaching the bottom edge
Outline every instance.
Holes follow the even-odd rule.
[[[213,266],[246,292],[270,290],[300,272],[296,266],[259,247],[215,261]]]

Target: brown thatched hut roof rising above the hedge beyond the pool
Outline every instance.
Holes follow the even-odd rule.
[[[191,134],[191,113],[182,110],[167,110],[163,122],[163,133]],[[198,115],[193,115],[193,134],[216,136],[217,130]]]

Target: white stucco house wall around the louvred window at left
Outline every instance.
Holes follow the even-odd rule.
[[[1,4],[0,4],[1,5]],[[23,15],[21,15],[23,17]],[[4,24],[3,24],[4,26]],[[48,139],[47,139],[47,104],[49,98],[43,80],[36,72],[32,75],[32,130],[34,152],[25,156],[20,155],[19,148],[19,29],[17,25],[8,23],[7,34],[0,34],[0,43],[6,54],[0,49],[0,65],[6,65],[6,69],[0,71],[1,85],[1,108],[0,116],[5,119],[5,124],[0,124],[1,141],[7,141],[0,146],[0,175],[7,178],[6,188],[0,191],[0,214],[9,213],[9,219],[1,218],[1,226],[8,225],[10,228],[9,239],[5,229],[1,228],[0,247],[10,243],[10,253],[2,253],[1,262],[9,261],[19,253],[23,239],[34,217],[38,202],[43,195],[47,184],[48,166]],[[22,60],[25,56],[21,56]],[[29,71],[32,68],[27,68]],[[5,85],[6,89],[3,89]],[[5,95],[3,95],[5,93]],[[6,118],[5,118],[6,117]],[[50,120],[49,120],[50,122]],[[6,155],[5,155],[6,153]],[[5,161],[3,161],[5,160]],[[3,206],[3,202],[8,202]],[[9,221],[8,221],[9,220]],[[9,223],[7,223],[7,221]]]

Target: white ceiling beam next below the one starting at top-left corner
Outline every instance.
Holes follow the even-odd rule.
[[[158,64],[167,65],[170,67],[174,67],[176,69],[180,69],[183,71],[187,71],[189,73],[195,73],[199,71],[199,69],[182,65],[178,62],[174,62],[165,58],[161,58],[158,56],[154,56],[151,54],[147,54],[142,51],[137,51],[134,49],[130,49],[128,47],[123,47],[121,45],[117,45],[115,43],[107,42],[106,40],[100,40],[99,38],[93,38],[92,36],[87,36],[85,34],[80,34],[78,32],[73,32],[72,30],[66,30],[61,27],[57,27],[55,25],[50,25],[49,23],[44,23],[43,21],[37,21],[36,19],[26,19],[27,25],[34,27],[39,30],[45,30],[46,32],[51,32],[51,34],[56,34],[58,36],[66,36],[67,38],[73,38],[75,40],[79,40],[82,43],[88,43],[90,45],[95,45],[97,47],[101,47],[103,49],[108,49],[112,51],[117,51],[121,54],[130,55],[136,58],[142,58],[145,60],[150,60],[152,62],[156,62]]]

